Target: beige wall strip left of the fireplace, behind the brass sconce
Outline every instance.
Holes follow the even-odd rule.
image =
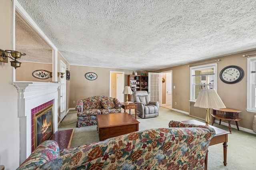
[[[11,49],[11,0],[0,0],[0,49]],[[0,164],[5,170],[19,166],[19,119],[18,93],[11,85],[12,69],[8,63],[0,62]]]

